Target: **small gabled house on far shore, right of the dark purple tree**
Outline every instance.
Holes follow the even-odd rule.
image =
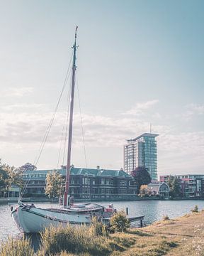
[[[152,182],[147,185],[146,192],[152,196],[169,199],[169,186],[165,182]]]

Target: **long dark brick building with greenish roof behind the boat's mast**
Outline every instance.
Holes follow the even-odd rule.
[[[46,176],[53,170],[25,171],[26,184],[24,196],[44,197]],[[57,169],[65,178],[66,169]],[[136,195],[134,178],[125,171],[106,169],[71,168],[69,193],[77,200],[132,200]]]

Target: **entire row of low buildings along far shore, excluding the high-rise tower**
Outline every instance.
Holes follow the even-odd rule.
[[[26,190],[23,197],[45,197],[46,176],[53,170],[25,171],[23,181]],[[62,178],[65,178],[66,169],[57,169]],[[204,197],[204,175],[188,174],[176,176],[160,176],[159,181],[149,183],[142,193],[147,196],[159,196],[169,198],[169,179],[177,178],[181,190],[181,197]],[[1,192],[3,193],[3,192]],[[69,193],[77,201],[120,201],[135,200],[137,198],[137,186],[134,178],[122,169],[120,171],[100,169],[71,169],[69,180]],[[9,191],[0,197],[18,197],[20,189],[12,186]]]

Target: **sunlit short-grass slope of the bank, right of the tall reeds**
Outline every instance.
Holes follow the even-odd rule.
[[[140,230],[132,229],[129,234],[135,244],[120,255],[204,255],[203,220],[204,211],[201,211],[173,220],[162,220]]]

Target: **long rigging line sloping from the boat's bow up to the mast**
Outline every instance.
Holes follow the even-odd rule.
[[[41,156],[41,154],[42,154],[42,150],[44,149],[45,142],[47,141],[47,137],[48,137],[48,135],[49,135],[49,133],[50,133],[50,128],[52,127],[52,123],[53,123],[53,121],[54,121],[54,119],[55,119],[55,114],[56,114],[56,112],[57,112],[58,106],[59,106],[59,104],[60,104],[60,100],[61,100],[61,98],[62,98],[62,94],[63,94],[63,92],[64,92],[64,87],[65,87],[65,85],[67,84],[67,80],[68,80],[69,75],[70,75],[70,73],[71,73],[70,65],[71,65],[71,63],[72,63],[72,58],[73,58],[73,53],[72,53],[72,56],[71,56],[71,58],[70,58],[70,60],[69,60],[69,65],[68,65],[68,68],[67,68],[67,73],[66,73],[66,76],[65,76],[65,79],[64,79],[64,84],[63,84],[63,87],[62,87],[62,91],[61,91],[61,93],[60,93],[60,98],[59,98],[59,100],[58,100],[58,102],[57,102],[57,106],[55,107],[54,115],[53,115],[52,119],[50,120],[50,124],[48,125],[47,130],[46,130],[46,132],[45,132],[45,135],[44,135],[44,137],[43,137],[43,139],[42,139],[42,143],[41,143],[40,149],[39,149],[39,155],[35,157],[35,161],[34,161],[34,164],[33,164],[33,165],[35,165],[35,166],[38,164],[38,161],[39,161],[40,156]],[[23,193],[25,193],[25,191],[26,191],[26,188],[27,188],[27,186],[28,186],[28,183],[29,183],[29,181],[30,181],[30,178],[31,178],[31,174],[30,174],[30,177],[28,178],[28,180],[26,181],[26,184],[25,184],[25,186],[24,186],[24,188],[23,188],[23,191],[22,191],[22,193],[21,193],[20,199],[22,198]]]

